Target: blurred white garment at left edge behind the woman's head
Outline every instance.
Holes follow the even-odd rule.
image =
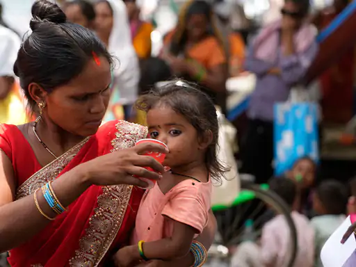
[[[16,33],[0,25],[0,76],[15,76],[13,72],[21,40]]]

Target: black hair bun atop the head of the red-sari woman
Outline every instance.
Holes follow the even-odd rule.
[[[35,1],[32,6],[32,19],[30,28],[32,31],[38,28],[43,22],[52,22],[55,24],[65,23],[67,17],[63,10],[56,3],[48,0]]]

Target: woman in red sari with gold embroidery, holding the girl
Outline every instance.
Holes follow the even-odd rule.
[[[56,4],[33,5],[32,33],[15,74],[33,123],[0,124],[0,252],[11,266],[108,266],[125,245],[147,184],[164,168],[133,147],[147,129],[112,121],[99,128],[110,92],[112,58],[104,44],[66,22]],[[60,44],[60,45],[58,45]],[[154,172],[143,167],[149,166]],[[202,241],[212,241],[214,220]],[[193,254],[147,266],[190,266]]]

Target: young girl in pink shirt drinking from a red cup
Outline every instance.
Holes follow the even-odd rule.
[[[170,170],[143,196],[133,245],[115,254],[121,267],[185,256],[207,225],[211,179],[227,171],[216,158],[218,118],[207,95],[178,80],[143,95],[136,106],[147,112],[149,137],[168,146],[163,165]]]

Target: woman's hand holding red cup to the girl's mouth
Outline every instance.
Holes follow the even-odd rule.
[[[135,147],[122,149],[104,156],[99,156],[76,167],[88,186],[110,186],[115,184],[132,184],[147,188],[149,184],[139,179],[152,181],[161,179],[163,165],[147,152],[167,154],[168,148],[159,143],[142,142]]]

